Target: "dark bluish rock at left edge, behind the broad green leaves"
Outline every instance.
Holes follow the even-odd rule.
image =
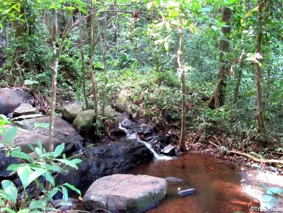
[[[11,164],[19,164],[20,160],[14,157],[6,157],[3,145],[0,145],[0,180],[10,176],[12,171],[6,170]]]

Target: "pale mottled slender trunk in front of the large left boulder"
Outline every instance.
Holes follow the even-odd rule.
[[[57,12],[54,14],[54,23],[52,30],[52,51],[53,51],[53,66],[52,70],[52,89],[51,89],[51,103],[50,103],[50,119],[49,119],[49,143],[48,151],[54,151],[54,117],[56,106],[56,89],[57,89],[57,72],[59,55],[56,50],[56,33],[57,33]]]

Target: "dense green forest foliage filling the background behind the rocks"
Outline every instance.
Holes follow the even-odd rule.
[[[259,4],[263,17],[260,23]],[[65,27],[72,26],[59,56],[58,100],[84,101],[84,89],[91,100],[91,76],[88,72],[84,76],[82,65],[88,69],[93,46],[92,23],[87,14],[96,11],[94,39],[97,45],[91,70],[98,105],[103,105],[103,97],[105,103],[112,104],[117,92],[128,88],[133,92],[134,103],[142,106],[153,121],[164,128],[178,130],[182,100],[177,73],[179,35],[176,29],[182,26],[187,131],[196,133],[195,137],[204,142],[216,135],[221,143],[247,152],[258,151],[258,141],[264,138],[267,146],[263,152],[283,152],[280,1],[93,1],[91,8],[88,1],[38,0],[35,3],[22,0],[3,1],[1,8],[1,53],[5,58],[0,68],[2,87],[28,86],[49,96],[53,63],[50,39],[57,14],[58,45]],[[223,8],[229,10],[229,25],[221,19]],[[186,21],[176,22],[180,16]],[[78,21],[82,33],[76,25]],[[223,28],[229,28],[230,33],[224,35]],[[259,35],[260,53],[256,50]],[[222,55],[221,63],[220,40],[229,44],[229,51]],[[225,101],[212,109],[209,101],[222,63],[227,69]],[[261,68],[265,135],[259,131],[256,120],[257,65]],[[82,86],[84,80],[85,88]],[[187,139],[195,141],[191,136]]]

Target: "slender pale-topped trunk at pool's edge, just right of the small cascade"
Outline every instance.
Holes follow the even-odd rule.
[[[184,54],[184,30],[182,27],[179,28],[179,50],[178,55],[178,73],[181,81],[181,97],[182,97],[182,115],[181,115],[181,135],[179,142],[179,149],[181,152],[186,152],[186,101],[185,101],[185,69],[183,64]]]

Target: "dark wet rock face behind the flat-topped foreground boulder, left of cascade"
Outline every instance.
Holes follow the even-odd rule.
[[[121,173],[152,159],[152,153],[145,145],[131,139],[88,147],[81,158],[79,169],[70,168],[68,173],[60,174],[57,184],[68,182],[84,192],[98,178]]]

